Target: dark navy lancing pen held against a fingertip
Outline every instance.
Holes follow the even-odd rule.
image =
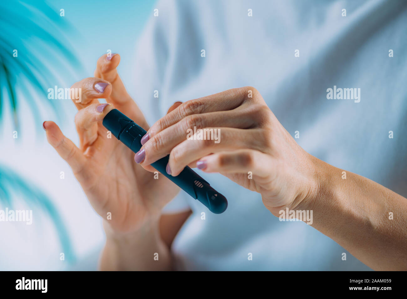
[[[117,109],[113,109],[103,118],[103,126],[112,132],[114,137],[123,142],[134,153],[141,148],[141,138],[147,133],[142,127],[133,122]],[[151,164],[155,169],[168,177],[173,183],[192,196],[194,199],[203,203],[211,212],[221,214],[228,207],[228,201],[225,196],[214,190],[210,184],[200,177],[190,167],[186,166],[182,172],[173,177],[166,172],[168,164],[167,155],[164,158]]]

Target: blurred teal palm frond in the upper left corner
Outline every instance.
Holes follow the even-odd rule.
[[[66,33],[77,32],[59,16],[58,10],[51,9],[45,2],[35,1],[33,4],[35,6],[21,1],[0,3],[0,52],[3,53],[0,74],[6,80],[0,84],[4,84],[9,96],[16,130],[19,127],[16,89],[24,95],[19,100],[26,100],[33,109],[36,122],[40,122],[38,109],[33,94],[24,83],[34,87],[37,98],[45,99],[57,118],[63,118],[55,101],[48,99],[47,90],[57,84],[56,78],[61,78],[60,70],[65,76],[83,70],[66,38]],[[18,51],[17,57],[13,57],[14,50]],[[0,112],[1,119],[4,109]]]

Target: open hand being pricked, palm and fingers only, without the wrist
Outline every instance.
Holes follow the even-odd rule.
[[[97,61],[95,77],[71,87],[81,88],[80,99],[71,95],[79,110],[75,116],[79,148],[62,134],[55,122],[46,121],[43,127],[48,142],[68,162],[96,212],[114,232],[128,233],[158,221],[162,208],[179,188],[161,174],[154,179],[154,173],[134,162],[134,153],[129,148],[114,136],[108,138],[102,120],[114,108],[149,129],[117,73],[119,62],[118,54],[112,54],[110,60],[103,55]],[[105,98],[111,105],[103,106],[98,98]],[[168,111],[178,105],[175,103]],[[148,170],[155,171],[152,167]]]

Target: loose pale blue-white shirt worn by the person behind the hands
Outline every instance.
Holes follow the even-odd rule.
[[[293,136],[300,132],[307,152],[407,195],[406,2],[164,0],[156,7],[133,78],[151,124],[176,100],[252,85]],[[334,85],[361,88],[360,102],[328,100]],[[259,194],[199,173],[229,207],[212,214],[185,192],[167,207],[193,210],[173,243],[178,269],[369,269],[313,227],[280,222]]]

